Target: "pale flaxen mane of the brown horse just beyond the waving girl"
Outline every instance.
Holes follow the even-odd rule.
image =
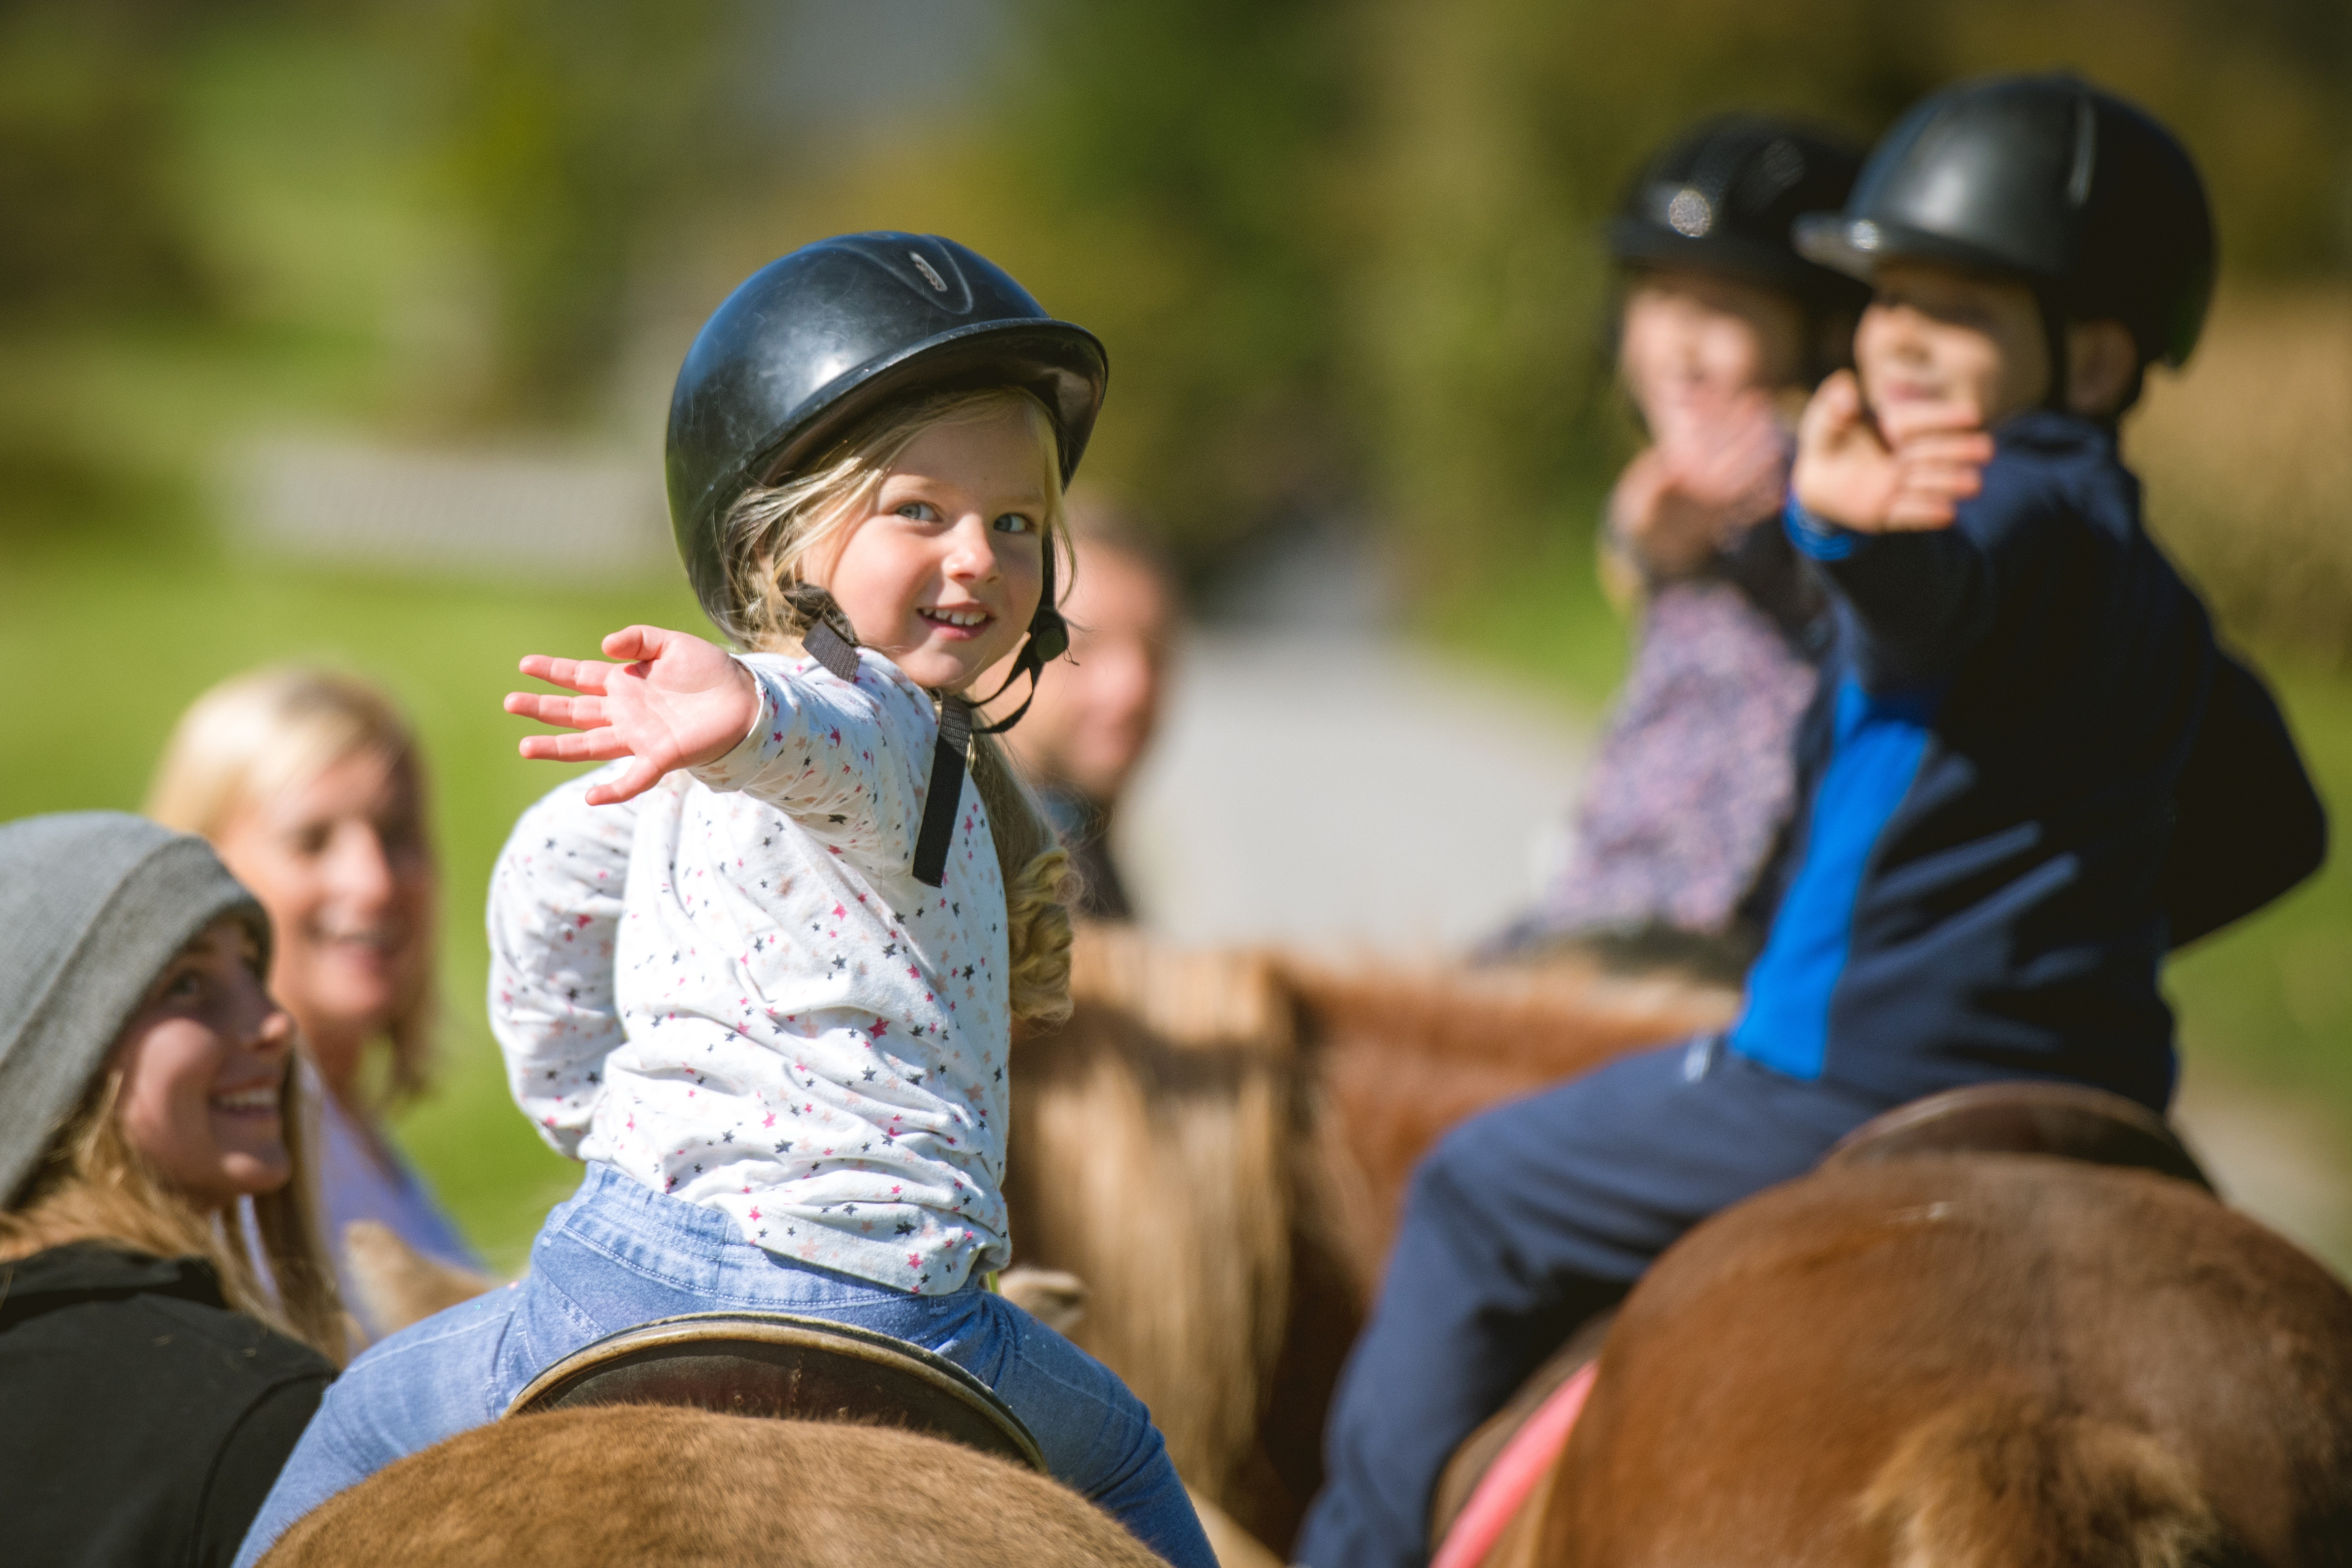
[[[1223,1497],[1289,1307],[1284,997],[1256,959],[1117,931],[1080,940],[1073,994],[1065,1025],[1014,1051],[1014,1246],[1087,1281],[1073,1338]]]

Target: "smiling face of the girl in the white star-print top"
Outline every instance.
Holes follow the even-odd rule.
[[[1054,505],[1042,423],[1004,407],[931,425],[814,574],[917,686],[962,691],[1028,635]]]

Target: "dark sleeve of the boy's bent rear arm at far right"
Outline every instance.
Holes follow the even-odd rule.
[[[2173,947],[2253,914],[2328,856],[2328,813],[2263,677],[2218,654],[2173,795],[2164,910]]]

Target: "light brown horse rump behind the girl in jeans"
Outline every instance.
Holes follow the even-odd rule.
[[[604,1406],[412,1453],[268,1568],[1160,1568],[1077,1493],[913,1432]]]

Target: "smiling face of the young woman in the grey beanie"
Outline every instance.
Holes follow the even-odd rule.
[[[294,1020],[261,987],[261,950],[223,914],[162,966],[115,1037],[125,1140],[200,1208],[282,1187],[292,1044]]]

